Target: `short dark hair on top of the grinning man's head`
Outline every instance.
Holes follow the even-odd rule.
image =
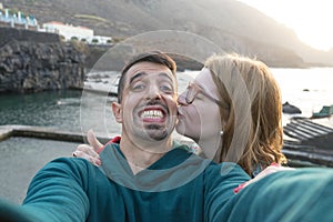
[[[124,82],[125,82],[125,74],[131,67],[133,67],[134,64],[137,64],[139,62],[152,62],[155,64],[163,64],[163,65],[168,67],[171,70],[172,74],[175,77],[175,71],[176,71],[175,62],[168,54],[160,52],[160,51],[144,52],[144,53],[138,54],[134,58],[132,58],[121,71],[121,77],[119,79],[119,85],[118,85],[118,102],[119,103],[122,100],[122,92],[123,92]]]

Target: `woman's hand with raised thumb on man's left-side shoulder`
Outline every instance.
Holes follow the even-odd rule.
[[[92,164],[100,167],[101,160],[98,152],[101,150],[103,144],[100,143],[100,141],[98,141],[92,130],[89,130],[87,132],[87,140],[89,144],[78,145],[77,150],[72,153],[72,155],[74,158],[83,158]]]

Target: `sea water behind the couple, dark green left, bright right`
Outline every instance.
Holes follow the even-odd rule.
[[[323,105],[333,104],[333,68],[271,69],[278,80],[282,101],[296,105],[302,117],[311,117]],[[179,92],[186,89],[199,71],[178,73]],[[113,72],[114,74],[114,72]],[[115,75],[115,74],[114,74]],[[108,84],[108,82],[105,83]],[[1,94],[0,124],[50,127],[84,133],[89,129],[119,134],[111,102],[117,98],[81,91],[49,91],[33,94]],[[291,115],[285,114],[284,119]],[[333,118],[325,119],[332,124]],[[333,124],[332,124],[333,127]]]

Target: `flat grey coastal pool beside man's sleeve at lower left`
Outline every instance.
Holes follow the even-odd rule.
[[[31,138],[0,142],[0,196],[21,203],[32,176],[47,162],[70,157],[78,143]]]

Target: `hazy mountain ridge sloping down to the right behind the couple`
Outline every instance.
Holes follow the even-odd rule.
[[[271,65],[333,65],[333,50],[306,47],[295,33],[258,10],[235,0],[2,0],[37,17],[92,28],[95,34],[127,38],[173,29],[198,33],[226,51],[255,56]],[[97,19],[87,19],[90,14]],[[303,60],[303,61],[302,61]]]

